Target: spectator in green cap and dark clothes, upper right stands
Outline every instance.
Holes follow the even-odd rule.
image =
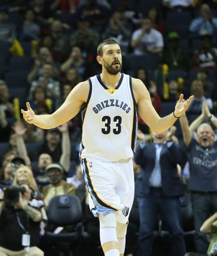
[[[163,51],[160,59],[160,68],[167,64],[170,70],[188,70],[189,54],[179,46],[180,36],[176,32],[170,32],[167,36],[168,48]]]

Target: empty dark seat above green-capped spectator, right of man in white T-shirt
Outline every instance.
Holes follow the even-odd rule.
[[[176,31],[182,38],[187,38],[189,34],[189,25],[192,19],[190,11],[170,11],[166,17],[167,34]],[[184,22],[183,22],[184,21]]]

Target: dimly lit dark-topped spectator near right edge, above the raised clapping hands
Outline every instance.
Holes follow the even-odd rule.
[[[197,71],[197,79],[202,81],[204,88],[204,96],[212,98],[213,89],[215,84],[208,78],[208,71],[205,68],[199,68]]]

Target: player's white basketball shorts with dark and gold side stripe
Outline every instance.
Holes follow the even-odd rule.
[[[134,198],[132,159],[105,162],[86,158],[81,159],[81,167],[93,215],[115,212],[117,221],[126,223]]]

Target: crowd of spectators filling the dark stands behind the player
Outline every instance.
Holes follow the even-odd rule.
[[[160,116],[194,95],[163,134],[138,116],[125,255],[217,255],[217,1],[0,0],[0,256],[103,255],[80,166],[81,114],[45,131],[20,109],[58,109],[101,73],[97,46],[108,38]]]

